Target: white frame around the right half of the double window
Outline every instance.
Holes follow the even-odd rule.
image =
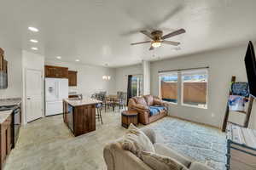
[[[183,103],[183,72],[189,72],[189,71],[206,71],[206,74],[207,74],[207,104],[205,107],[201,107],[201,106],[198,106],[198,105],[189,105],[189,104],[184,104]],[[191,69],[191,70],[186,70],[186,71],[180,71],[179,73],[179,76],[180,76],[180,104],[183,105],[183,106],[186,106],[186,107],[194,107],[194,108],[199,108],[199,109],[208,109],[208,86],[209,86],[209,71],[208,69]]]

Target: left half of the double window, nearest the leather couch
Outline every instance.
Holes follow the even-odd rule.
[[[177,104],[177,72],[160,75],[160,98]]]

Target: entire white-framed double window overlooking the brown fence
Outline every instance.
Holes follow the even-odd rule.
[[[191,69],[159,75],[159,96],[173,104],[207,109],[208,70]]]

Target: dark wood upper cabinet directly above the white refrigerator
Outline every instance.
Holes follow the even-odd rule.
[[[53,65],[44,65],[45,77],[68,78],[68,68]]]

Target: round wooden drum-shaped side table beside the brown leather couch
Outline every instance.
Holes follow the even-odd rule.
[[[137,111],[122,111],[122,126],[128,128],[132,123],[138,125]]]

